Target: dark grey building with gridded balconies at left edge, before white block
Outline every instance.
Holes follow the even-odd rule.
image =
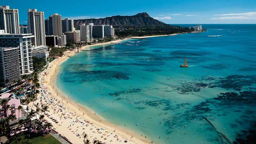
[[[0,47],[0,87],[10,86],[20,79],[19,51],[19,47]]]

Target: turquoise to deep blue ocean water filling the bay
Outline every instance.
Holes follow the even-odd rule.
[[[252,142],[256,25],[203,28],[207,31],[94,46],[61,64],[56,85],[106,120],[154,143]],[[190,67],[180,68],[185,56]]]

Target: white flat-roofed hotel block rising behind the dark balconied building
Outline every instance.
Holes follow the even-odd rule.
[[[33,72],[31,34],[0,34],[0,47],[19,47],[20,74]]]

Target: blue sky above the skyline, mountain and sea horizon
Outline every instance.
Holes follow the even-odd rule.
[[[147,12],[168,24],[256,23],[256,0],[2,0],[1,5],[19,9],[20,24],[27,10],[53,13],[62,18],[87,19]]]

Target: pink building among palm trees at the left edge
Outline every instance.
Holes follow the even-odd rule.
[[[6,100],[7,103],[0,105],[1,118],[13,115],[17,119],[19,119],[19,116],[21,117],[21,112],[20,110],[18,110],[18,107],[20,106],[20,98],[19,97],[15,98],[15,95],[13,93],[4,93],[0,97],[0,102],[2,103],[3,100]],[[6,109],[6,105],[10,105],[10,109]]]

